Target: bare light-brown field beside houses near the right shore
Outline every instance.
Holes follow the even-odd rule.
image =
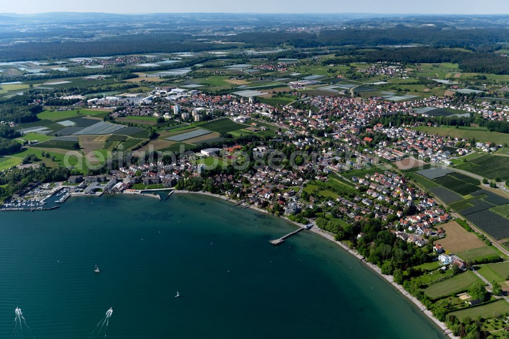
[[[456,221],[449,221],[441,225],[446,237],[437,240],[446,250],[458,253],[474,248],[487,247],[474,233],[468,232]]]

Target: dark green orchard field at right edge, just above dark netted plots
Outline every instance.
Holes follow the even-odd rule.
[[[509,136],[509,134],[507,134]],[[509,157],[501,155],[483,154],[473,159],[469,159],[456,166],[460,170],[471,172],[488,179],[500,178],[509,180]]]

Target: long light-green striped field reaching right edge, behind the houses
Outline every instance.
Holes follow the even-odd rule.
[[[455,138],[475,139],[480,142],[495,143],[497,145],[509,144],[509,134],[499,132],[489,132],[484,130],[461,129],[454,127],[428,127],[418,126],[414,128],[419,132],[427,134],[436,134],[440,136],[451,136]]]

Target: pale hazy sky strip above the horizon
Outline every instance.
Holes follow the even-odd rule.
[[[421,13],[509,14],[507,0],[0,0],[3,13]]]

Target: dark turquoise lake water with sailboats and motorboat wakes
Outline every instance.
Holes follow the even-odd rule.
[[[339,246],[306,231],[269,244],[293,230],[196,194],[2,212],[0,338],[444,337]]]

